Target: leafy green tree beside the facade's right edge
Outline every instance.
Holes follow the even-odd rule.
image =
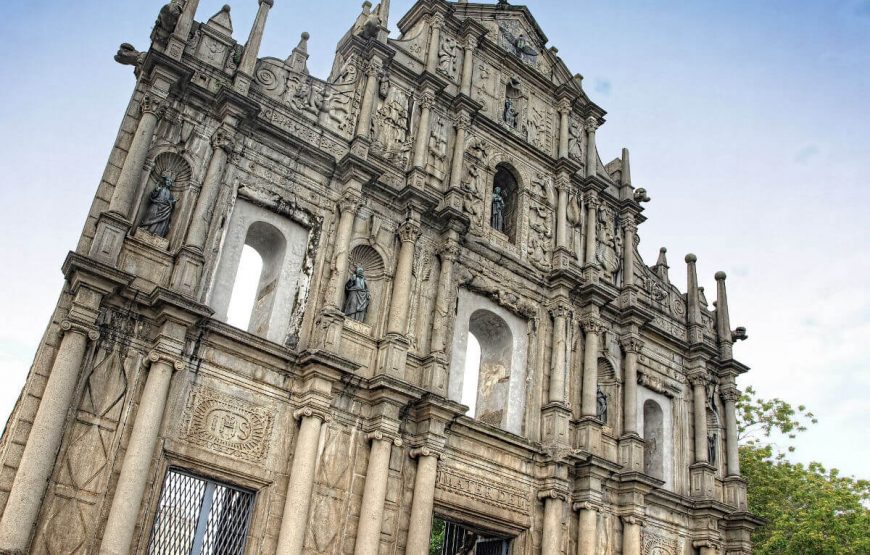
[[[738,401],[749,509],[766,521],[752,537],[758,555],[870,554],[870,482],[786,459],[797,433],[814,423],[803,405],[760,399],[751,387]]]

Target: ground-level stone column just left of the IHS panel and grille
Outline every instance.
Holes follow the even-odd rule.
[[[173,370],[184,363],[152,351],[148,355],[150,370],[145,390],[139,400],[136,422],[121,465],[121,475],[112,498],[112,507],[100,544],[100,555],[122,555],[130,552],[133,532],[139,522],[139,508],[148,482],[148,471],[154,460],[154,447],[160,433],[160,423],[166,408],[166,397]]]

